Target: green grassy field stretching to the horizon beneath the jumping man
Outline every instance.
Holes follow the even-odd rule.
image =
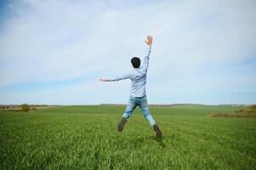
[[[211,117],[228,106],[139,109],[117,132],[124,106],[0,111],[0,169],[256,169],[256,118]]]

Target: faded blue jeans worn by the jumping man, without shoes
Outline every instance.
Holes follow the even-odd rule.
[[[130,96],[130,99],[128,101],[128,105],[126,108],[126,111],[123,113],[122,117],[125,117],[126,119],[129,118],[134,112],[134,109],[139,105],[140,110],[143,112],[143,115],[145,118],[150,122],[151,126],[156,124],[153,117],[151,116],[146,96],[144,97],[132,97]]]

